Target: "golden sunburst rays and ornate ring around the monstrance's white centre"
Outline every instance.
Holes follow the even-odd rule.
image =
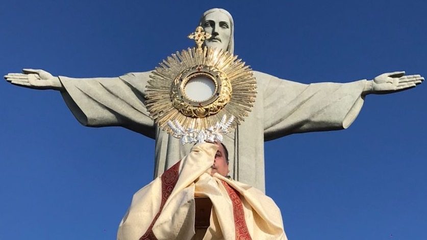
[[[186,86],[200,77],[211,81],[212,95],[194,100]],[[169,133],[168,121],[176,120],[184,129],[208,129],[224,114],[235,117],[234,128],[254,105],[256,79],[249,66],[228,51],[194,47],[163,60],[150,75],[146,93],[150,116]]]

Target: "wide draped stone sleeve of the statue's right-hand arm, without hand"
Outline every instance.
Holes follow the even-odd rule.
[[[367,80],[303,84],[263,74],[264,140],[348,128],[362,108]],[[258,96],[257,96],[258,98]]]

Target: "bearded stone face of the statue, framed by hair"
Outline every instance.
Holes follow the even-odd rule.
[[[228,50],[231,24],[227,15],[219,11],[209,13],[202,20],[202,27],[205,32],[212,34],[212,37],[205,41],[207,47]]]

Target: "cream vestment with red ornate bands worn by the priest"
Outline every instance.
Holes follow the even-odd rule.
[[[155,239],[154,235],[159,240],[235,240],[250,239],[246,235],[249,233],[254,240],[286,240],[280,210],[271,198],[258,189],[218,173],[210,175],[217,149],[212,143],[195,145],[180,165],[172,166],[164,176],[157,177],[135,193],[128,212],[120,222],[117,239]],[[177,182],[170,192],[167,189],[173,178]],[[232,197],[229,197],[230,187],[239,193],[242,208],[236,208]],[[167,200],[164,200],[165,195]],[[204,237],[194,235],[194,196],[207,196],[212,201],[210,226]],[[242,212],[245,221],[238,217]]]

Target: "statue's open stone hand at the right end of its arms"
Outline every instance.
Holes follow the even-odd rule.
[[[367,81],[364,95],[389,94],[413,88],[424,81],[420,75],[405,76],[405,72],[383,73],[373,80]]]

